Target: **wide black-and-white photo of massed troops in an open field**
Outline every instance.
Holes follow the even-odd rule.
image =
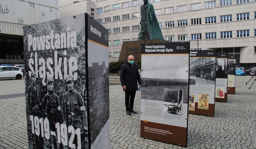
[[[164,89],[183,90],[183,96],[188,97],[188,57],[179,55],[170,59],[169,56],[168,54],[144,56],[143,63],[150,62],[152,59],[154,63],[142,65],[142,99],[163,101]],[[183,60],[180,61],[180,59]],[[188,99],[185,98],[182,102],[188,103]]]

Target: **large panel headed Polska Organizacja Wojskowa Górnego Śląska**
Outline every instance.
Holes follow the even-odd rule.
[[[141,137],[187,146],[189,42],[141,49]]]

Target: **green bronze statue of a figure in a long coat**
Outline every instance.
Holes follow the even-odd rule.
[[[144,4],[141,5],[141,30],[138,40],[164,40],[153,5],[149,3],[148,0],[143,0],[143,2]]]

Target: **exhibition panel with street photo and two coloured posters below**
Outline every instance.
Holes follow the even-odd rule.
[[[214,116],[215,63],[215,50],[190,51],[190,114]]]

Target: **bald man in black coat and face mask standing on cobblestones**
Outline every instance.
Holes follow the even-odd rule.
[[[121,66],[120,70],[120,81],[125,91],[125,108],[126,114],[131,115],[131,113],[136,114],[133,110],[133,103],[136,94],[136,90],[138,90],[137,81],[139,82],[139,86],[141,87],[141,76],[139,75],[138,67],[134,63],[134,56],[130,55]]]

